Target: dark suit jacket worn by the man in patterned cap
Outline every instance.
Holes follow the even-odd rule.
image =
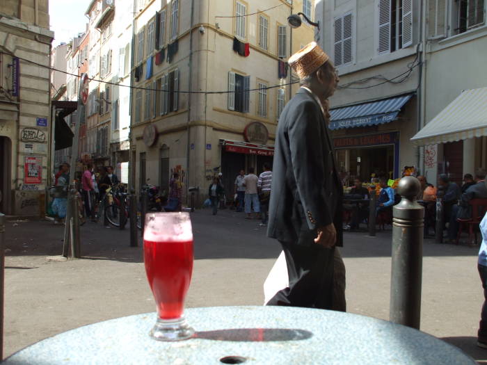
[[[314,245],[317,228],[335,223],[342,245],[343,188],[321,106],[301,88],[276,132],[267,234],[283,245]]]

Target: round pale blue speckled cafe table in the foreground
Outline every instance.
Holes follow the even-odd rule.
[[[429,334],[356,314],[295,307],[186,309],[195,337],[148,335],[156,314],[86,325],[35,343],[17,364],[475,364]]]

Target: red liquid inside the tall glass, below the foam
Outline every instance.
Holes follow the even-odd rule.
[[[193,271],[193,241],[144,240],[144,262],[159,318],[181,317]]]

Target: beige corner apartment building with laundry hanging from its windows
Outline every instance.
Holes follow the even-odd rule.
[[[131,181],[168,190],[177,172],[204,197],[223,173],[273,159],[280,112],[296,86],[287,58],[313,40],[313,1],[136,1],[131,67]]]

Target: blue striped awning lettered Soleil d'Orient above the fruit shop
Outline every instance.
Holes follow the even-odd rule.
[[[367,127],[392,122],[413,93],[330,110],[330,129]]]

